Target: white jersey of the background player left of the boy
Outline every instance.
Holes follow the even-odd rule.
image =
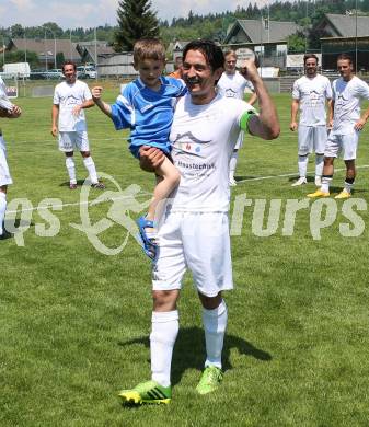
[[[55,86],[54,104],[59,105],[59,131],[82,131],[87,129],[83,108],[78,116],[72,114],[76,105],[92,100],[89,86],[79,80],[73,84],[61,82]]]

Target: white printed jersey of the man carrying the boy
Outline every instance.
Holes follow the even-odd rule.
[[[218,94],[195,105],[191,95],[178,100],[170,140],[181,172],[172,211],[224,212],[229,208],[229,160],[240,132],[240,118],[253,107]]]

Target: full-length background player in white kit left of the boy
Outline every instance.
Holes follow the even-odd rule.
[[[105,185],[99,182],[95,163],[90,154],[83,109],[94,106],[89,86],[77,80],[77,68],[72,61],[62,66],[66,80],[55,86],[51,135],[59,134],[59,150],[66,154],[66,168],[69,175],[69,188],[77,188],[76,164],[73,151],[81,152],[83,164],[89,172],[91,186],[103,189]]]

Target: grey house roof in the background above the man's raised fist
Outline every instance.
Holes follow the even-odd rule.
[[[265,20],[237,20],[228,31],[223,43],[230,43],[240,30],[245,33],[250,43],[266,43],[285,41],[300,27],[295,22],[269,21],[269,28],[267,28]]]

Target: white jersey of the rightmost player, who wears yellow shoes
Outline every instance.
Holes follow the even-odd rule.
[[[354,76],[349,81],[339,78],[333,82],[334,134],[348,135],[354,131],[354,125],[360,118],[362,100],[369,100],[369,86],[358,77]]]

